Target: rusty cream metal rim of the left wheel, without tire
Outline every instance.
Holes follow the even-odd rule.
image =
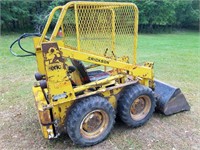
[[[108,114],[103,110],[94,110],[88,113],[81,122],[81,134],[88,139],[96,138],[107,128]]]

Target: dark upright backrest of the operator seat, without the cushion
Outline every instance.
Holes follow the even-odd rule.
[[[75,59],[71,59],[71,62],[73,66],[76,67],[76,69],[78,70],[81,77],[81,81],[84,84],[91,82],[84,64],[81,61]]]

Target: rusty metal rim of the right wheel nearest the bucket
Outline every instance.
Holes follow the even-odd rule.
[[[148,115],[150,109],[150,98],[148,96],[142,95],[133,101],[130,109],[130,114],[133,120],[142,120]]]

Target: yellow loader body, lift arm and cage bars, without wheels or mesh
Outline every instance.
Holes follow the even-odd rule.
[[[82,52],[80,50],[80,44],[76,50],[70,49],[64,46],[62,41],[55,41],[57,33],[62,27],[62,22],[65,17],[67,10],[71,7],[75,8],[78,4],[84,5],[103,5],[105,7],[119,7],[119,6],[131,6],[135,12],[135,22],[134,22],[134,47],[133,47],[133,64],[127,63],[122,58],[113,59],[106,58],[94,54],[89,54],[86,52]],[[112,48],[115,49],[115,20],[112,7],[109,9],[112,11],[113,20],[112,20]],[[52,21],[52,18],[57,10],[61,10],[60,16],[56,23],[56,26],[53,30],[53,33],[50,37],[49,41],[45,40],[45,36],[47,34],[48,28]],[[75,21],[76,21],[76,35],[77,35],[77,43],[79,43],[79,31],[78,31],[78,19],[77,13],[75,13]],[[136,64],[136,49],[137,49],[137,36],[138,36],[138,9],[137,6],[133,3],[113,3],[113,2],[69,2],[64,6],[55,7],[46,23],[42,36],[40,38],[34,39],[34,46],[36,49],[36,57],[38,63],[38,70],[41,74],[45,74],[47,80],[47,90],[43,90],[36,84],[33,87],[33,93],[35,95],[35,99],[37,102],[37,108],[40,112],[39,118],[40,121],[43,121],[44,118],[48,117],[48,113],[45,111],[49,110],[52,114],[53,120],[49,119],[49,125],[42,127],[43,135],[45,138],[55,138],[60,134],[60,130],[58,127],[62,127],[64,125],[64,120],[66,118],[66,111],[73,104],[73,102],[77,99],[87,97],[94,94],[102,94],[107,97],[110,103],[113,104],[113,107],[116,107],[117,98],[114,95],[119,94],[121,89],[127,85],[135,84],[136,82],[140,82],[141,84],[151,87],[154,87],[153,82],[154,73],[153,73],[153,64],[146,63],[148,65],[139,66]],[[55,60],[56,58],[56,60]],[[100,80],[94,81],[88,84],[83,84],[76,86],[75,88],[72,86],[70,81],[70,77],[66,74],[68,72],[68,67],[66,66],[66,62],[63,58],[72,58],[85,62],[90,62],[96,65],[108,66],[114,68],[114,71],[111,73],[111,76]],[[151,64],[151,65],[149,65]],[[125,82],[127,76],[130,76],[130,81]],[[116,82],[118,81],[118,82]],[[107,88],[106,86],[112,85],[112,88]],[[89,88],[100,87],[96,91],[88,91]],[[87,91],[82,95],[76,95],[78,92]],[[38,96],[38,93],[48,94],[48,104],[44,103],[45,96],[41,98]]]

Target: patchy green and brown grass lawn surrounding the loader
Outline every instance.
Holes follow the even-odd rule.
[[[43,139],[31,91],[37,71],[35,58],[17,58],[9,52],[18,36],[0,37],[0,149],[80,149],[66,134],[53,141]],[[154,62],[155,77],[180,87],[191,111],[169,117],[154,114],[136,129],[117,122],[107,140],[86,149],[199,149],[199,33],[140,34],[138,42],[138,63]],[[33,50],[32,43],[26,39],[23,45]]]

